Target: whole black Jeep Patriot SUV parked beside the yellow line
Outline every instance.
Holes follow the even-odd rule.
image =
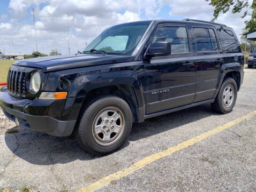
[[[139,21],[110,27],[79,55],[16,61],[0,91],[17,125],[107,154],[133,122],[203,103],[229,113],[243,82],[244,56],[219,23]]]

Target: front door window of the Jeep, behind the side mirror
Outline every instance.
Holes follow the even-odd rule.
[[[162,27],[155,34],[153,42],[170,42],[171,54],[190,51],[185,27]]]

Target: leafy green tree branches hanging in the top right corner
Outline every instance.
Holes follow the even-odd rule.
[[[219,17],[220,13],[227,13],[232,6],[232,13],[240,13],[243,8],[249,7],[249,0],[205,0],[207,2],[210,1],[210,5],[215,7],[213,13],[212,21],[216,20]],[[252,9],[251,19],[249,21],[245,21],[245,29],[248,31],[253,31],[256,29],[256,0],[253,0],[252,5],[250,6]],[[244,12],[242,18],[244,18],[248,14],[247,10]]]

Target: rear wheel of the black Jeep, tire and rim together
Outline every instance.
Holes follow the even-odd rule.
[[[232,96],[230,90],[232,90]],[[232,111],[237,99],[237,84],[233,78],[226,78],[221,89],[215,98],[215,101],[211,103],[213,109],[222,114],[227,114]]]

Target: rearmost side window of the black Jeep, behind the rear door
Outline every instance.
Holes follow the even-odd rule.
[[[225,51],[237,51],[237,42],[231,30],[221,29],[219,32],[222,41],[222,47]]]

